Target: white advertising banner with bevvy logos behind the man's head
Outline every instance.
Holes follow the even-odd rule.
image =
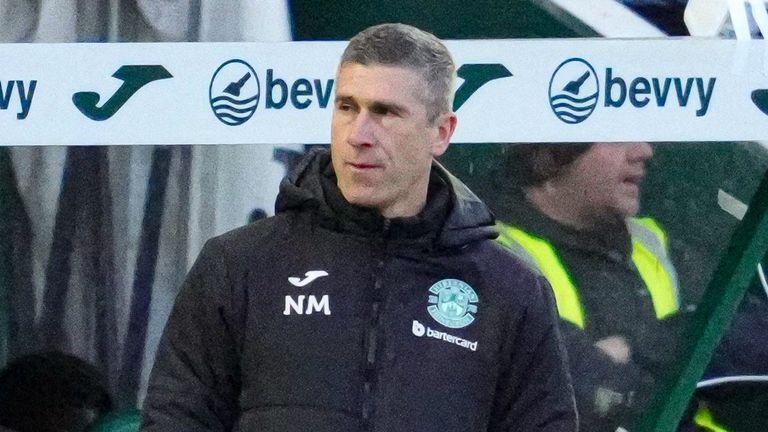
[[[768,139],[765,41],[449,41],[454,142]],[[0,144],[329,142],[345,42],[0,44]]]

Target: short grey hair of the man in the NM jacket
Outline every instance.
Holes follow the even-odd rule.
[[[379,24],[353,37],[340,65],[400,66],[421,73],[427,88],[424,103],[427,120],[433,123],[451,112],[456,65],[448,48],[432,33],[406,24]]]

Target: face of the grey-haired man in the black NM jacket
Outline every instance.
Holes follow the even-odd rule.
[[[347,201],[388,218],[421,211],[432,158],[445,152],[456,126],[452,113],[428,121],[426,88],[409,68],[339,68],[331,158]]]

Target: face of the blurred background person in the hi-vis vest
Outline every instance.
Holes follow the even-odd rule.
[[[640,182],[651,157],[646,142],[595,143],[558,181],[577,194],[582,213],[592,219],[631,217],[640,208]]]

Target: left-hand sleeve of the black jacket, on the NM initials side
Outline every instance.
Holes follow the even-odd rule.
[[[142,409],[143,432],[228,431],[238,415],[240,371],[232,284],[209,241],[168,319]]]

